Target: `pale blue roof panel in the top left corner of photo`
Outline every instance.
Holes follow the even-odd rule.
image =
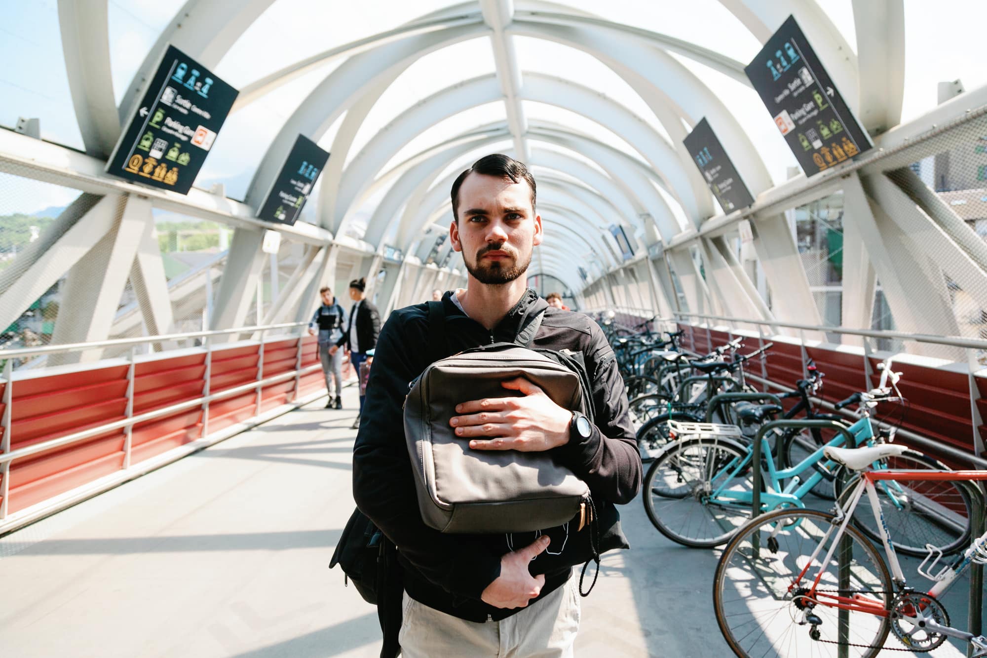
[[[20,117],[38,119],[41,138],[82,149],[72,94],[65,73],[58,5],[4,2],[0,5],[0,125]]]

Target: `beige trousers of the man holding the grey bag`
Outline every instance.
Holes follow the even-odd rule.
[[[577,579],[501,619],[477,623],[440,613],[405,593],[401,655],[405,658],[571,658],[579,630]]]

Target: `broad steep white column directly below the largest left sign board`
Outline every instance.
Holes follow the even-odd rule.
[[[137,248],[151,219],[151,203],[134,196],[116,197],[111,229],[69,270],[51,336],[53,344],[105,341],[126,286]],[[102,350],[51,355],[48,364],[97,361]]]

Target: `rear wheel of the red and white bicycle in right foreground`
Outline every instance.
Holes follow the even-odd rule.
[[[834,519],[816,510],[769,512],[727,543],[714,576],[713,606],[723,638],[737,656],[871,658],[884,646],[890,624],[880,611],[888,610],[893,598],[891,575],[871,542],[852,526],[823,565],[836,535]],[[820,568],[815,594],[806,596]],[[837,596],[854,599],[858,609],[838,610]],[[873,613],[860,610],[865,602]]]

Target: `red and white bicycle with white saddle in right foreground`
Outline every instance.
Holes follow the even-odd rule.
[[[969,643],[973,656],[987,656],[987,637],[951,626],[949,612],[940,601],[972,562],[987,563],[987,532],[971,541],[967,535],[967,548],[939,569],[944,552],[927,545],[926,558],[917,571],[935,585],[923,593],[907,584],[895,550],[897,541],[886,530],[877,493],[880,486],[890,484],[920,498],[923,487],[902,484],[950,482],[956,486],[957,482],[987,481],[987,471],[868,470],[874,461],[904,448],[824,450],[828,458],[859,475],[842,498],[845,504],[837,503],[835,514],[777,510],[743,526],[723,549],[714,577],[714,608],[733,652],[741,658],[763,658],[799,653],[848,656],[853,650],[870,658],[882,649],[932,651],[952,637]],[[965,486],[982,498],[975,485]],[[886,560],[851,525],[865,494]],[[977,511],[982,514],[982,506]],[[798,636],[802,627],[807,632]],[[889,632],[906,648],[885,647]]]

